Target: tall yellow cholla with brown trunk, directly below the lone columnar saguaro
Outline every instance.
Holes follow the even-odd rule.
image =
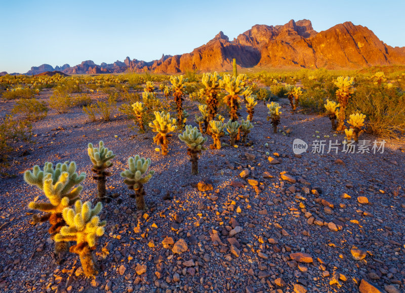
[[[231,77],[229,74],[224,75],[224,79],[220,82],[221,88],[228,92],[228,95],[224,97],[224,102],[230,108],[230,116],[232,121],[237,120],[239,108],[239,96],[244,91],[245,82],[239,78]]]

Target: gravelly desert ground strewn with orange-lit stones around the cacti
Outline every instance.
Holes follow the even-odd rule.
[[[151,132],[131,131],[118,113],[110,122],[87,122],[79,108],[49,112],[34,123],[35,143],[17,146],[3,170],[11,176],[0,181],[1,290],[404,292],[405,141],[387,141],[382,154],[342,147],[327,153],[330,139],[343,141],[332,136],[329,119],[291,114],[288,101],[280,103],[279,128],[290,128],[290,137],[272,133],[259,102],[251,145],[203,152],[197,176],[177,134],[163,157]],[[197,111],[195,103],[186,107]],[[240,112],[246,117],[245,108]],[[315,131],[330,135],[323,154],[311,153]],[[310,144],[307,152],[293,153],[296,138]],[[99,140],[117,154],[107,182],[115,198],[101,215],[107,226],[96,250],[100,274],[86,278],[76,255],[54,258],[48,224],[30,224],[28,202],[45,196],[22,173],[45,161],[74,160],[87,173],[82,199],[95,202],[87,144]],[[135,154],[151,158],[155,170],[145,186],[146,213],[136,211],[119,177]]]

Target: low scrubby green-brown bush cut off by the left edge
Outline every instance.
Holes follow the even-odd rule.
[[[0,160],[6,160],[7,152],[16,141],[28,141],[31,137],[31,123],[27,120],[16,120],[11,115],[0,119]]]

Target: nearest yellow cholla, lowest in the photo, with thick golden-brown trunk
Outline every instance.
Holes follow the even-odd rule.
[[[66,207],[63,210],[63,219],[67,226],[60,229],[55,235],[56,242],[76,241],[76,245],[69,251],[78,254],[82,263],[83,272],[87,277],[97,275],[93,250],[96,249],[97,238],[104,235],[105,221],[100,221],[97,216],[101,212],[101,202],[94,208],[92,203],[77,200],[73,208]]]

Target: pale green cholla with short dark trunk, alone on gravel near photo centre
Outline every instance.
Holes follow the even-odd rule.
[[[186,131],[182,135],[179,134],[179,139],[188,146],[187,154],[190,156],[191,173],[197,175],[198,154],[206,150],[203,145],[207,141],[207,138],[203,137],[196,127],[193,128],[191,125],[186,125]]]

